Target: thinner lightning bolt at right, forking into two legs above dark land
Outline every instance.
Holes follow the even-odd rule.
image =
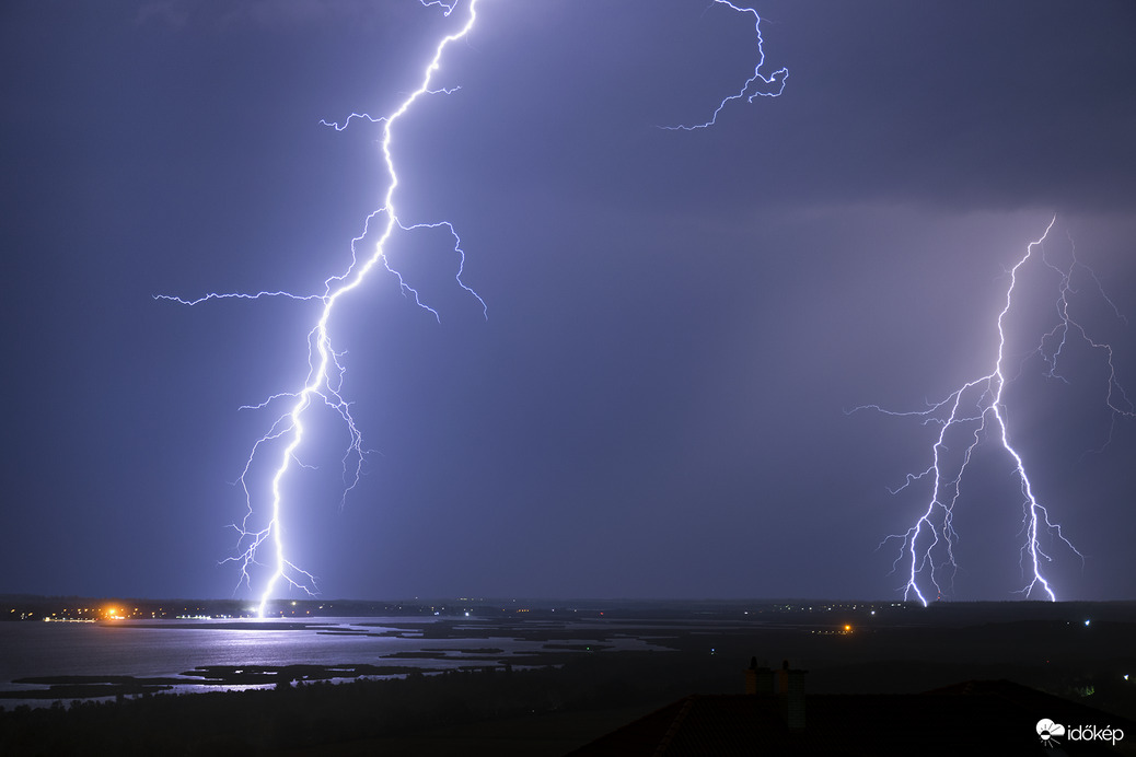
[[[1049,237],[1055,221],[1056,217],[1050,220],[1042,236],[1027,245],[1025,254],[1009,271],[1010,283],[1005,291],[1005,302],[996,319],[997,352],[993,369],[988,373],[963,384],[944,399],[928,404],[925,410],[897,412],[885,410],[879,405],[862,405],[850,411],[875,410],[887,415],[914,417],[921,419],[924,424],[938,426],[938,434],[932,444],[930,464],[919,473],[909,473],[905,481],[892,490],[892,494],[899,494],[917,481],[929,479],[932,491],[927,505],[911,528],[902,533],[887,536],[879,545],[883,547],[892,540],[900,542],[900,553],[892,569],[893,572],[897,572],[901,566],[905,567],[908,580],[903,586],[904,599],[914,598],[926,606],[927,595],[925,590],[928,584],[934,587],[938,596],[942,597],[953,583],[954,573],[958,570],[954,546],[959,537],[953,524],[954,508],[959,502],[962,480],[971,457],[979,444],[992,437],[1012,460],[1013,476],[1021,489],[1022,533],[1025,537],[1020,564],[1025,584],[1020,589],[1020,594],[1026,598],[1035,594],[1044,595],[1051,602],[1056,602],[1053,587],[1042,570],[1043,562],[1053,561],[1053,557],[1042,548],[1041,538],[1043,535],[1050,535],[1054,544],[1063,545],[1084,562],[1084,555],[1066,538],[1061,525],[1050,519],[1049,510],[1035,494],[1034,485],[1026,471],[1025,459],[1011,441],[1003,399],[1006,384],[1012,380],[1006,379],[1006,316],[1013,308],[1019,274],[1026,266],[1036,260],[1038,261],[1036,264],[1045,266],[1058,275],[1055,300],[1058,322],[1050,331],[1042,335],[1037,347],[1030,354],[1039,355],[1046,363],[1049,377],[1066,381],[1059,368],[1061,359],[1070,339],[1079,339],[1104,356],[1108,371],[1105,404],[1111,413],[1113,424],[1118,417],[1136,418],[1136,412],[1134,412],[1136,406],[1133,405],[1117,378],[1112,347],[1106,343],[1093,339],[1088,330],[1070,316],[1070,295],[1077,293],[1072,284],[1074,276],[1086,276],[1100,296],[1110,305],[1113,314],[1120,320],[1125,319],[1120,316],[1116,304],[1104,294],[1096,274],[1077,259],[1076,246],[1072,246],[1071,262],[1066,267],[1058,266],[1046,259],[1043,243]],[[1071,242],[1070,238],[1070,244]],[[1039,251],[1035,252],[1035,249],[1039,249]],[[1022,360],[1022,365],[1025,362]],[[947,455],[950,443],[954,438],[969,439],[957,463],[952,463]],[[922,581],[922,588],[920,581]]]

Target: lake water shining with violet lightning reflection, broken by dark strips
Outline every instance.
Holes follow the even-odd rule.
[[[609,649],[652,649],[634,631],[563,623],[499,624],[465,619],[354,617],[291,621],[117,621],[0,623],[0,691],[43,690],[15,683],[44,676],[177,678],[177,692],[249,688],[184,676],[204,666],[381,665],[444,671],[516,659]],[[592,631],[594,629],[594,633]],[[591,639],[590,639],[591,637]],[[538,663],[537,663],[538,664]],[[64,700],[74,696],[59,697]],[[0,699],[5,708],[52,699]]]

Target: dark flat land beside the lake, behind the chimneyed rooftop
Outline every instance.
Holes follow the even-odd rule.
[[[808,670],[807,695],[908,695],[1008,680],[1093,707],[1102,718],[1136,720],[1136,603],[401,606],[407,619],[383,622],[376,634],[509,637],[543,646],[512,656],[462,646],[395,655],[424,663],[432,655],[454,655],[479,663],[434,675],[348,663],[209,666],[183,674],[222,687],[272,684],[242,692],[134,696],[139,681],[125,676],[30,679],[49,687],[119,689],[116,701],[70,707],[57,701],[0,713],[0,754],[559,755],[687,695],[740,693],[753,656],[774,667],[788,659]],[[440,606],[458,607],[460,615],[434,617]],[[429,615],[431,622],[414,615]],[[612,648],[627,638],[648,639],[655,650]],[[404,678],[371,680],[392,671]],[[1134,680],[1125,678],[1129,674]],[[51,698],[73,696],[62,691]],[[879,717],[886,722],[886,713]],[[1136,742],[1136,733],[1131,739]]]

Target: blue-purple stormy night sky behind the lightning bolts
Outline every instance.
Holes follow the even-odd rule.
[[[319,304],[153,295],[321,292],[386,177],[377,126],[319,121],[395,107],[462,8],[3,3],[0,591],[233,592],[233,481],[275,418],[239,409],[302,385]],[[454,224],[488,317],[428,232],[389,253],[441,323],[385,271],[335,312],[374,453],[341,507],[346,432],[311,414],[285,527],[324,596],[901,597],[877,546],[926,489],[888,487],[937,428],[847,411],[988,372],[1054,213],[1046,254],[1075,243],[1128,323],[1091,278],[1070,313],[1136,398],[1130,2],[762,2],[784,94],[692,133],[657,127],[750,76],[752,16],[478,10],[395,150],[401,218]],[[1010,432],[1085,555],[1051,549],[1058,596],[1136,599],[1136,420],[1101,351],[1068,382],[1030,356],[1056,285],[1031,267],[1008,320]],[[989,441],[970,474],[951,596],[1014,598],[1012,463]]]

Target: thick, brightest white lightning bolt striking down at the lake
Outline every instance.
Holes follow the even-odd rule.
[[[457,2],[445,3],[440,0],[419,0],[419,2],[421,2],[424,7],[437,6],[442,8],[443,15],[446,17],[453,12],[457,6]],[[371,269],[374,269],[378,263],[382,263],[387,271],[396,277],[399,286],[404,294],[412,296],[415,303],[418,306],[428,310],[435,319],[438,318],[437,311],[423,303],[418,297],[418,292],[407,284],[398,271],[391,268],[390,262],[386,259],[385,250],[387,241],[395,230],[411,232],[416,229],[445,228],[453,239],[453,251],[458,256],[458,272],[456,276],[458,285],[481,303],[483,313],[486,312],[485,302],[477,295],[476,292],[466,286],[466,284],[461,280],[461,275],[465,270],[466,255],[461,249],[461,238],[458,236],[453,226],[449,221],[437,221],[432,224],[403,224],[399,219],[394,207],[394,194],[399,186],[399,176],[395,171],[394,157],[392,152],[394,126],[398,120],[411,108],[411,106],[414,106],[414,103],[424,95],[450,94],[457,90],[457,87],[432,89],[432,82],[434,74],[441,66],[442,54],[445,49],[451,43],[466,37],[474,27],[474,23],[477,18],[477,0],[468,0],[466,8],[468,10],[468,18],[466,19],[465,25],[457,32],[444,36],[437,43],[433,58],[431,58],[426,68],[423,70],[423,78],[418,89],[411,92],[393,112],[381,118],[374,118],[366,113],[352,113],[342,126],[339,124],[323,121],[325,125],[332,126],[336,131],[345,128],[352,119],[362,119],[370,121],[371,124],[381,125],[381,145],[389,175],[386,195],[383,197],[382,205],[367,217],[364,222],[362,234],[351,242],[351,264],[343,274],[332,276],[324,281],[323,294],[296,295],[289,292],[260,292],[257,294],[229,293],[207,294],[195,300],[183,300],[181,297],[169,295],[156,296],[158,300],[172,300],[186,305],[197,305],[207,301],[220,298],[261,300],[267,297],[285,297],[302,301],[318,300],[323,302],[323,310],[320,311],[319,319],[308,333],[308,378],[303,387],[296,392],[286,392],[273,395],[258,405],[247,406],[250,409],[262,409],[281,399],[291,401],[292,403],[291,409],[279,415],[268,431],[252,445],[252,451],[249,453],[249,457],[245,461],[244,469],[242,470],[239,479],[239,482],[244,490],[245,504],[248,506],[248,512],[245,513],[243,520],[233,525],[240,535],[237,539],[239,554],[224,561],[237,563],[241,566],[241,579],[237,586],[243,583],[251,588],[252,583],[250,570],[253,565],[262,564],[259,560],[262,552],[266,549],[270,550],[273,555],[270,562],[273,573],[260,596],[258,612],[261,617],[265,614],[269,598],[273,596],[273,591],[281,581],[285,581],[290,586],[302,589],[308,594],[315,594],[316,590],[316,581],[311,573],[296,566],[286,556],[287,550],[284,544],[283,527],[284,494],[282,487],[285,477],[292,469],[293,463],[296,466],[304,466],[298,457],[298,452],[303,443],[304,436],[303,417],[308,409],[317,399],[323,402],[323,404],[327,405],[340,415],[350,437],[350,443],[343,457],[344,482],[346,483],[343,494],[344,497],[346,497],[346,494],[359,482],[362,473],[362,462],[367,451],[362,448],[362,436],[356,427],[354,419],[351,417],[350,405],[341,394],[343,375],[345,371],[344,365],[341,362],[343,353],[336,352],[332,347],[332,340],[328,334],[328,321],[331,320],[332,312],[334,311],[336,303],[341,297],[343,297],[343,295],[360,286],[367,275],[370,274]],[[382,234],[375,243],[375,247],[371,250],[370,254],[366,258],[360,258],[356,246],[367,237],[370,230],[371,221],[379,217],[385,219],[383,221]],[[257,528],[252,523],[254,516],[257,515],[257,508],[253,506],[253,495],[249,489],[248,476],[253,462],[261,455],[262,449],[266,446],[272,445],[274,441],[281,441],[284,446],[279,453],[279,462],[272,479],[272,504],[269,507],[268,520],[262,528]]]

